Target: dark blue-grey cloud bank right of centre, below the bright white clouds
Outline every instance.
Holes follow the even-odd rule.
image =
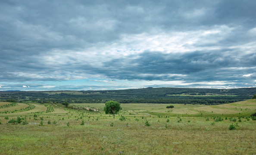
[[[223,80],[222,76],[226,79],[231,74],[244,74],[250,69],[243,69],[237,71],[236,68],[240,67],[255,67],[255,54],[248,54],[238,56],[235,52],[226,51],[194,51],[185,54],[162,54],[159,52],[144,52],[140,54],[137,59],[132,57],[125,57],[123,59],[115,59],[106,63],[106,66],[116,66],[118,70],[123,71],[119,74],[119,79],[144,79],[144,80],[174,80],[174,79],[190,79],[191,75],[193,80],[196,79],[213,81]],[[235,61],[238,58],[239,61]],[[250,58],[250,59],[248,59]],[[130,65],[135,64],[136,65]],[[122,70],[124,68],[124,70]],[[232,69],[234,68],[234,69]],[[253,71],[253,70],[252,70]],[[106,71],[108,76],[116,75],[113,71]],[[144,74],[149,74],[144,76]],[[163,76],[158,76],[163,74]],[[172,76],[169,77],[165,74],[183,74],[190,75]],[[127,76],[124,76],[127,75]],[[221,77],[219,75],[222,75]],[[117,78],[117,77],[112,77]]]

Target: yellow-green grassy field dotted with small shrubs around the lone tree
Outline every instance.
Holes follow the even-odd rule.
[[[0,110],[19,110],[18,105]],[[256,121],[250,117],[255,99],[223,105],[121,104],[115,119],[103,112],[103,103],[69,105],[100,112],[30,105],[34,108],[0,114],[0,155],[256,154]],[[22,123],[9,123],[12,119]],[[231,125],[236,130],[229,130]]]

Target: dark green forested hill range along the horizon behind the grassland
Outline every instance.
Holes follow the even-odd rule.
[[[121,103],[193,103],[218,104],[250,99],[256,87],[237,89],[206,88],[140,88],[128,90],[57,90],[57,91],[0,91],[0,99],[16,99],[37,102],[106,102]]]

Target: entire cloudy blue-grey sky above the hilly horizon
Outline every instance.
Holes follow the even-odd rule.
[[[0,0],[0,90],[256,87],[255,0]]]

